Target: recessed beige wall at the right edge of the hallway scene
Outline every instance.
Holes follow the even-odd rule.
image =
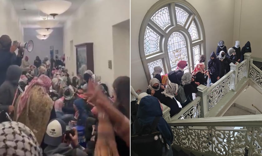
[[[114,79],[130,76],[130,20],[113,26]]]

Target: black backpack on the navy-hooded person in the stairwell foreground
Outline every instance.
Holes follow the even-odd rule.
[[[143,126],[137,134],[131,136],[131,147],[138,156],[162,156],[163,145],[160,132],[156,130],[160,117],[155,117],[153,124]],[[138,120],[133,124],[140,128]]]

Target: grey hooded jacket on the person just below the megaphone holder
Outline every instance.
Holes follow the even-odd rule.
[[[6,80],[0,86],[0,104],[2,105],[2,110],[8,110],[8,106],[12,105],[21,74],[22,68],[19,66],[11,65],[8,67]]]

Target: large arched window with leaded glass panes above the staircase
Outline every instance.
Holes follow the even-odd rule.
[[[184,0],[162,0],[146,13],[139,32],[139,51],[148,81],[154,66],[163,73],[175,70],[179,60],[187,61],[191,72],[205,55],[205,32],[196,9]]]

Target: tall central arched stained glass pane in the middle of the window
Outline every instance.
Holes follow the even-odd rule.
[[[171,70],[177,67],[179,60],[187,61],[187,45],[184,36],[179,32],[173,32],[167,42],[167,51]]]

